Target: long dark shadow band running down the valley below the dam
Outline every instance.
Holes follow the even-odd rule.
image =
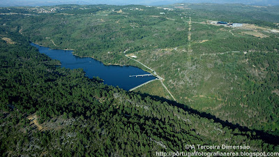
[[[176,107],[179,107],[179,108],[189,112],[189,114],[197,114],[197,115],[199,115],[199,117],[203,117],[203,118],[206,118],[206,119],[213,119],[214,122],[220,123],[223,127],[228,127],[230,129],[233,129],[233,130],[238,128],[239,131],[241,131],[241,132],[250,131],[251,133],[252,132],[256,133],[256,135],[251,135],[251,136],[249,136],[247,134],[234,134],[234,135],[243,135],[243,136],[249,137],[252,140],[263,140],[264,142],[269,143],[269,144],[274,144],[274,145],[279,144],[279,136],[271,135],[269,133],[264,132],[263,130],[255,130],[255,129],[250,129],[246,126],[240,126],[239,124],[232,124],[229,121],[223,121],[222,119],[219,119],[218,117],[215,117],[212,114],[209,114],[209,113],[206,113],[206,112],[199,112],[199,111],[197,111],[197,110],[195,110],[195,109],[193,109],[193,108],[191,108],[187,105],[177,103],[174,100],[168,100],[167,98],[163,98],[163,97],[160,97],[160,96],[152,96],[150,94],[142,94],[142,93],[139,93],[139,92],[137,92],[136,94],[140,94],[140,96],[142,96],[142,97],[149,96],[153,100],[160,100],[161,102],[167,102],[169,105],[174,105]]]

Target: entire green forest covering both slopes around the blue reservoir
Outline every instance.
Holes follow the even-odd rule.
[[[186,144],[279,151],[278,7],[178,6],[0,8],[1,156],[156,156],[193,151]],[[177,102],[158,82],[128,92],[61,68],[30,42],[111,64],[140,66],[123,52],[136,55]]]

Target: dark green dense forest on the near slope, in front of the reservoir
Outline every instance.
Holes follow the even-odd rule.
[[[2,156],[156,156],[156,151],[187,151],[185,144],[279,151],[278,137],[107,86],[85,77],[82,69],[56,66],[59,62],[19,33],[1,36],[15,42],[0,43]],[[38,126],[30,125],[29,117]]]

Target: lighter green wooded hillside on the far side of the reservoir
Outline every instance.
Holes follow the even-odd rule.
[[[179,103],[278,135],[277,6],[65,5],[31,10],[33,15],[3,15],[1,22],[39,45],[144,68],[124,54],[135,55],[163,77]],[[244,24],[224,27],[211,24],[214,20]]]

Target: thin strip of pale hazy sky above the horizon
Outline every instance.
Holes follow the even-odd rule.
[[[249,5],[279,5],[279,0],[0,0],[0,6],[50,6],[65,3],[75,4],[144,4],[164,5],[170,3],[244,3]]]

